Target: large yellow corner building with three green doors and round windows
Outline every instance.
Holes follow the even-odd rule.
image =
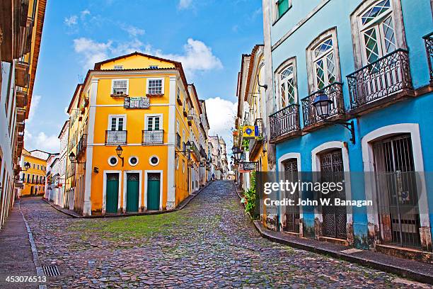
[[[98,62],[68,113],[77,212],[170,210],[197,188],[202,111],[180,62],[139,52]]]

